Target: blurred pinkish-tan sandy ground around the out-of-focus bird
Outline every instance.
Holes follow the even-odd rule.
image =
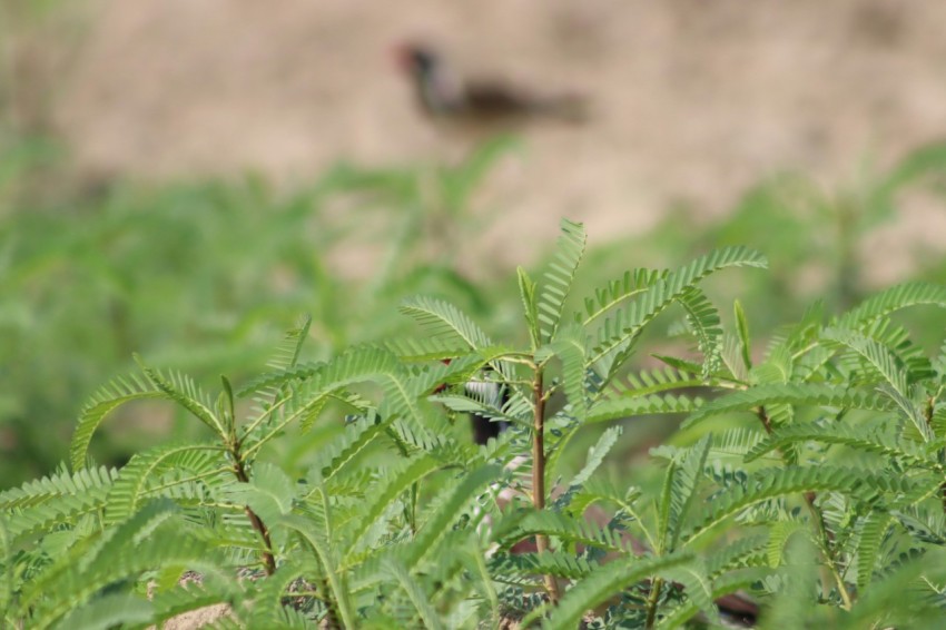
[[[504,220],[481,242],[511,262],[559,216],[594,238],[674,203],[716,216],[767,174],[847,184],[946,130],[938,0],[93,2],[55,119],[96,174],[452,159],[470,137],[432,126],[391,62],[418,36],[470,72],[585,93],[588,124],[523,129],[491,181]]]

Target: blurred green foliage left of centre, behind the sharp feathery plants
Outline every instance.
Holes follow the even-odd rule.
[[[496,304],[445,254],[456,235],[432,224],[482,220],[470,191],[506,147],[485,145],[435,171],[338,166],[292,191],[246,177],[21,199],[0,216],[0,489],[55,469],[77,401],[128,372],[132,352],[198,381],[223,371],[237,380],[299,313],[313,314],[321,357],[404,331],[408,322],[378,314],[411,293],[492,318]],[[0,139],[0,206],[7,181],[16,187],[37,168],[38,150],[4,152]],[[148,427],[193,436],[180,414],[150,408],[129,411],[137,422],[97,440],[96,457],[124,463],[154,437]]]

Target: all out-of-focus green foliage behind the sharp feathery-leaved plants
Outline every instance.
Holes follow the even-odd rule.
[[[76,402],[131,368],[132,351],[156,365],[186,370],[198,382],[220,372],[242,378],[277,343],[272,331],[290,326],[298,313],[313,314],[313,346],[327,358],[351,344],[404,332],[404,322],[381,315],[413,293],[446,298],[505,338],[518,334],[514,283],[489,260],[479,263],[486,267],[481,282],[471,283],[456,272],[455,256],[461,235],[491,220],[472,199],[509,140],[485,144],[453,167],[339,166],[286,191],[252,177],[90,187],[75,183],[57,161],[61,150],[55,144],[4,138],[0,488],[55,467],[65,456]],[[670,211],[648,234],[591,248],[577,294],[620,275],[629,248],[661,266],[750,243],[767,253],[773,274],[742,274],[738,282],[710,277],[707,286],[727,299],[739,296],[765,337],[800,316],[812,296],[824,295],[830,309],[863,298],[870,284],[854,270],[879,260],[865,258],[865,238],[891,218],[905,195],[939,194],[944,171],[946,149],[934,145],[840,191],[800,175],[773,178],[747,193],[726,219],[698,230],[679,229],[692,219]],[[946,282],[942,256],[917,254],[920,277]],[[337,273],[352,262],[381,273]],[[924,333],[938,329],[929,313],[908,318],[920,343],[935,342]],[[666,335],[664,323],[651,334]],[[159,426],[175,439],[191,435],[179,415],[150,407],[126,413],[138,420],[112,425],[95,443],[95,455],[108,465],[124,463],[154,439],[144,427]],[[652,423],[633,429],[659,430]],[[593,442],[593,434],[577,443]]]

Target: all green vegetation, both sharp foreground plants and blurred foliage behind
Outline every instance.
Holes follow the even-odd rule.
[[[946,267],[871,293],[861,249],[946,146],[698,230],[563,222],[544,272],[473,282],[509,140],[288,191],[80,181],[29,37],[60,4],[0,9],[0,626],[940,623]]]

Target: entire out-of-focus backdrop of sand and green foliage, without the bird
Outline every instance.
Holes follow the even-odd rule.
[[[311,358],[411,331],[413,293],[518,341],[512,272],[562,216],[589,288],[761,249],[713,291],[762,337],[940,282],[943,23],[936,0],[0,0],[0,488],[57,465],[134,352],[213,387],[303,313]],[[431,116],[406,42],[584,116]],[[93,452],[188,431],[128,407]]]

